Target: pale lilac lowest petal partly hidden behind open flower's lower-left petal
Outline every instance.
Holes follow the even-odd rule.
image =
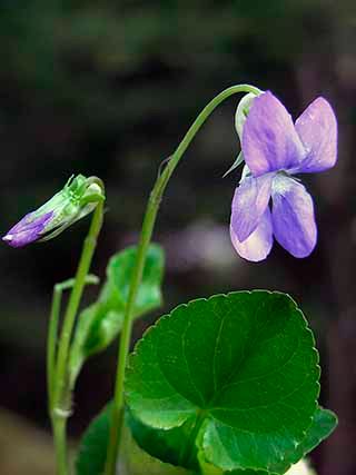
[[[258,227],[244,243],[238,240],[233,226],[230,226],[230,237],[237,254],[244,259],[253,263],[266,259],[274,243],[269,208],[266,208]]]

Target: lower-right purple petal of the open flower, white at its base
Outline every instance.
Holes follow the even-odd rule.
[[[312,196],[303,185],[277,176],[273,185],[274,235],[294,257],[306,257],[315,248],[317,229]]]

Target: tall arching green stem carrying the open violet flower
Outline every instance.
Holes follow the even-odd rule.
[[[156,222],[156,217],[157,217],[157,212],[159,209],[162,195],[179,160],[181,159],[184,152],[187,150],[188,146],[190,145],[190,142],[192,141],[196,133],[198,132],[200,127],[204,125],[204,122],[225,99],[239,92],[253,92],[253,93],[259,95],[261,91],[255,88],[254,86],[238,85],[238,86],[233,86],[228,89],[225,89],[222,92],[216,96],[202,109],[202,111],[199,113],[197,119],[194,121],[194,123],[187,131],[186,136],[179,144],[178,148],[171,156],[170,160],[168,161],[166,168],[164,169],[161,175],[158,176],[155,187],[151,191],[151,195],[147,205],[145,218],[144,218],[144,224],[141,228],[139,245],[138,245],[136,266],[134,269],[128,301],[125,309],[123,326],[122,326],[120,346],[119,346],[119,353],[118,353],[118,366],[117,366],[113,406],[112,406],[112,413],[111,413],[111,426],[110,426],[105,475],[115,475],[115,471],[116,471],[116,461],[119,453],[120,432],[121,432],[122,418],[123,418],[125,368],[126,368],[127,355],[129,353],[129,345],[131,339],[134,306],[136,301],[137,291],[141,283],[146,255],[147,255],[148,246],[151,240],[154,226]]]

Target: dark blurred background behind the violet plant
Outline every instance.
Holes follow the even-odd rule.
[[[228,221],[239,174],[221,176],[238,151],[236,98],[215,112],[179,165],[155,240],[167,251],[164,310],[245,288],[296,298],[317,336],[322,402],[339,416],[313,461],[320,475],[354,475],[355,1],[2,0],[0,31],[1,232],[71,174],[98,175],[109,208],[92,266],[99,276],[111,254],[136,241],[160,162],[221,89],[271,89],[295,117],[318,95],[333,103],[338,165],[305,178],[319,229],[312,257],[294,259],[276,245],[268,260],[248,264],[233,250]],[[88,222],[46,245],[0,247],[2,475],[51,473],[48,311],[53,284],[76,270]],[[87,301],[93,298],[88,290]],[[135,337],[158,315],[138,321]],[[111,395],[115,354],[92,358],[80,377],[73,438]]]

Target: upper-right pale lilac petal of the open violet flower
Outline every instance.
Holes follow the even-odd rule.
[[[337,158],[337,121],[332,106],[323,97],[301,113],[296,130],[309,150],[297,171],[315,172],[334,167]]]

